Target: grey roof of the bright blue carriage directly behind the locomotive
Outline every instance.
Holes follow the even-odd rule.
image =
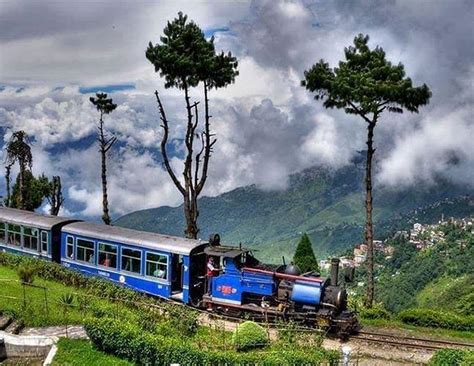
[[[75,222],[66,225],[63,231],[94,239],[108,240],[116,243],[184,255],[189,255],[194,248],[207,244],[206,241],[201,240],[186,239],[91,222]]]

